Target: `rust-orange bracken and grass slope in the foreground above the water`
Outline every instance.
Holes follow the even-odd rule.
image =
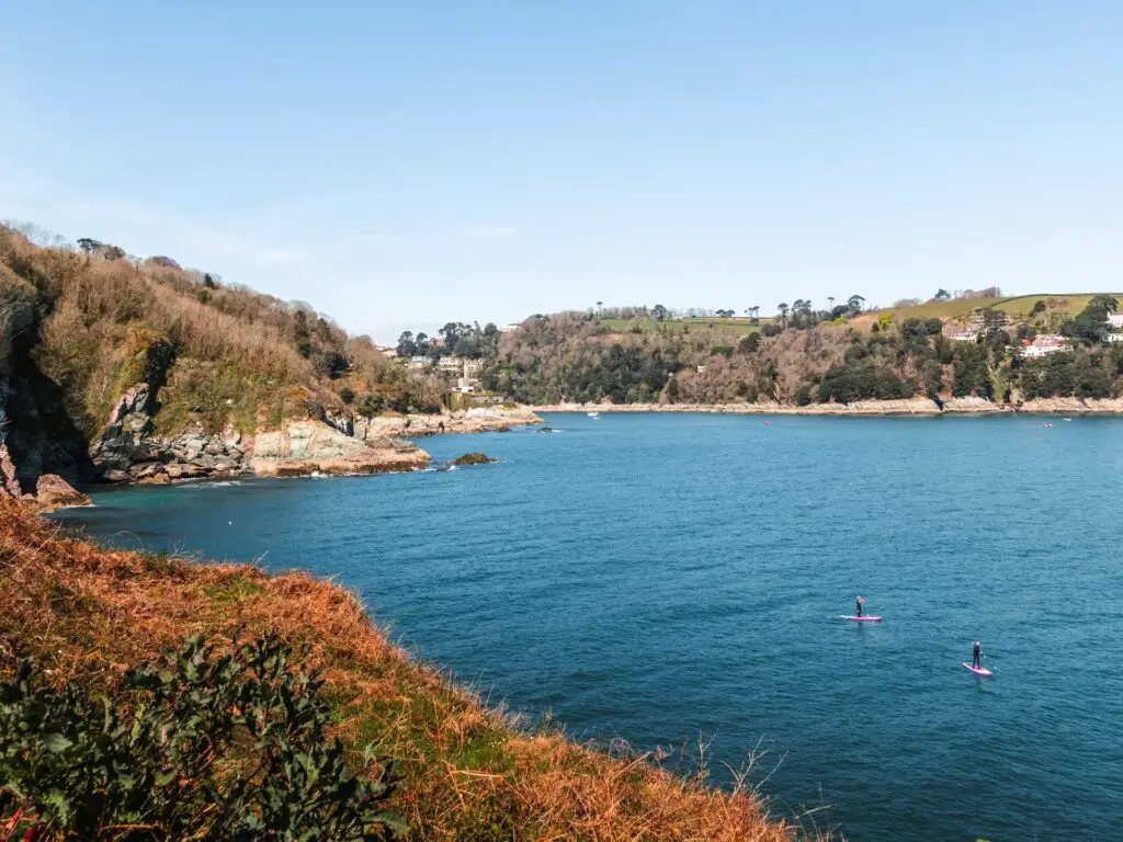
[[[192,632],[226,641],[239,626],[309,642],[326,667],[338,730],[378,741],[402,784],[395,807],[418,840],[791,839],[751,794],[706,788],[626,751],[530,733],[411,661],[358,601],[303,574],[198,565],[60,538],[0,501],[0,649],[27,647],[60,681],[110,692],[122,670]],[[3,660],[0,659],[0,665]]]

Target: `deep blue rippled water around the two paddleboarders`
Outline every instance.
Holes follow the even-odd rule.
[[[421,442],[497,465],[65,516],[337,576],[577,736],[701,732],[719,779],[763,739],[774,809],[855,840],[1123,839],[1123,419],[1054,421],[557,415]],[[837,619],[858,593],[883,624]]]

